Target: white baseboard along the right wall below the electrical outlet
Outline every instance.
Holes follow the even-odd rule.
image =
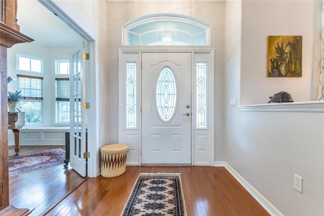
[[[282,214],[271,202],[269,202],[262,194],[259,193],[252,185],[250,185],[246,179],[238,174],[228,163],[225,161],[215,161],[215,166],[224,166],[229,173],[241,184],[259,203],[262,207],[271,215],[284,215]]]

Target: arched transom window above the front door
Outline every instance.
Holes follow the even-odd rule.
[[[210,25],[177,14],[139,17],[123,25],[126,46],[209,46]]]

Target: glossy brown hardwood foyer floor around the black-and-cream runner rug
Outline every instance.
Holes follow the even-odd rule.
[[[181,173],[188,215],[269,215],[224,167],[207,166],[128,166],[118,177],[89,178],[48,215],[118,216],[140,172]]]

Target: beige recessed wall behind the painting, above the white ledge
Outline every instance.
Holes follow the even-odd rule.
[[[242,105],[267,103],[280,91],[289,92],[295,102],[317,96],[312,74],[313,57],[320,56],[320,11],[321,1],[242,1]],[[267,78],[268,35],[303,36],[301,78]]]

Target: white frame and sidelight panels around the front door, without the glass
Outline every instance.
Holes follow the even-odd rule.
[[[165,47],[163,47],[165,48]],[[126,143],[129,145],[129,154],[127,165],[141,165],[141,120],[142,115],[140,110],[140,105],[142,104],[142,94],[141,94],[141,77],[142,71],[140,67],[141,54],[142,53],[191,53],[191,104],[192,112],[194,111],[194,71],[196,61],[207,61],[208,62],[208,127],[206,129],[196,129],[195,128],[195,115],[192,114],[191,121],[191,165],[210,165],[214,166],[215,160],[215,137],[214,137],[214,49],[210,48],[181,48],[181,47],[167,47],[166,49],[161,49],[160,46],[152,46],[145,48],[123,48],[118,49],[118,142]],[[125,62],[126,61],[136,61],[137,62],[137,86],[138,86],[138,126],[134,129],[126,129],[126,111],[125,109]]]

